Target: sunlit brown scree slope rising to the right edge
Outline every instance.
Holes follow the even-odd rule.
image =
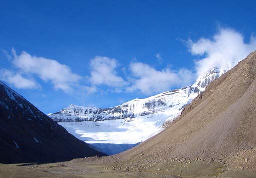
[[[255,130],[256,52],[253,52],[213,81],[167,129],[120,156],[137,161],[141,167],[147,166],[147,162],[201,158],[255,169]]]

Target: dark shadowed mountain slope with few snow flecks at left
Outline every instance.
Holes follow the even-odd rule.
[[[41,162],[103,155],[69,134],[0,82],[0,162]]]

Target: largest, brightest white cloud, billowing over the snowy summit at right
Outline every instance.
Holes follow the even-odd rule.
[[[189,40],[189,50],[193,55],[203,58],[195,61],[197,75],[200,76],[213,67],[231,69],[250,52],[256,49],[256,40],[251,37],[244,43],[243,36],[232,29],[219,29],[213,39],[201,38],[196,42]]]

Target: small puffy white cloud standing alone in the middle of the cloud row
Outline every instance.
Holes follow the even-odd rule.
[[[117,76],[117,61],[108,57],[96,56],[90,61],[89,81],[92,85],[107,85],[110,87],[122,87],[126,82]]]

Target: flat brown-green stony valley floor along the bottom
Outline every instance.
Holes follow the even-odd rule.
[[[207,160],[139,162],[116,156],[88,157],[56,163],[0,164],[0,177],[256,177],[255,169],[228,168]]]

